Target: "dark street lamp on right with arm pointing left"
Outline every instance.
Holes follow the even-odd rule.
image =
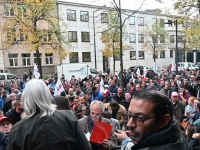
[[[174,23],[176,26],[176,49],[175,49],[175,64],[176,64],[176,74],[178,74],[178,24],[177,20],[175,21],[168,21],[164,24],[172,24]]]

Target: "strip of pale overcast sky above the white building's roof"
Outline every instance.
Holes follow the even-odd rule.
[[[74,2],[74,3],[84,3],[84,4],[91,4],[91,5],[106,5],[112,7],[111,2],[113,0],[62,0],[62,1],[68,1],[68,2]],[[115,0],[116,3],[119,2],[119,0]],[[167,3],[160,4],[156,2],[156,0],[145,0],[144,5],[140,9],[141,11],[146,9],[162,9],[163,13],[166,12],[167,8],[172,8],[172,2],[173,0],[166,0]],[[122,8],[126,9],[138,9],[141,4],[143,3],[143,0],[121,0]]]

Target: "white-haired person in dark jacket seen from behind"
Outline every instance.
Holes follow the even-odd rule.
[[[41,80],[27,82],[22,94],[26,117],[13,126],[9,150],[91,150],[75,115],[56,110]]]

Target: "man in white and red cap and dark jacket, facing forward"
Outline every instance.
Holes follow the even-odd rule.
[[[183,121],[184,118],[184,113],[185,113],[185,103],[183,103],[182,101],[180,101],[178,99],[178,93],[177,92],[172,92],[171,94],[171,102],[172,102],[172,106],[173,106],[173,114],[174,114],[174,118],[181,123]]]

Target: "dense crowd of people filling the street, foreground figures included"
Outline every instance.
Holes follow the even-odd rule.
[[[116,74],[89,75],[70,81],[26,79],[23,89],[12,81],[0,85],[0,145],[9,150],[121,149],[198,150],[200,74],[185,70],[139,75],[124,70],[124,86]],[[55,96],[57,80],[64,91]],[[112,125],[101,143],[89,143],[97,121]],[[9,138],[7,136],[9,135]]]

